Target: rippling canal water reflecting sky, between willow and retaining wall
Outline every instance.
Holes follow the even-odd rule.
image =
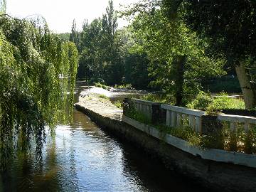
[[[119,142],[81,112],[48,137],[43,163],[17,156],[1,174],[0,191],[205,191],[130,144]]]

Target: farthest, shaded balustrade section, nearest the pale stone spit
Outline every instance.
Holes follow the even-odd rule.
[[[152,105],[158,104],[156,102],[150,102],[139,99],[131,99],[131,101],[134,103],[134,107],[137,110],[137,112],[142,112],[142,114],[145,114],[149,118],[151,118],[152,114]]]

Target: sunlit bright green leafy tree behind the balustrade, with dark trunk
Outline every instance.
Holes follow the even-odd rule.
[[[137,49],[151,60],[149,71],[154,84],[174,95],[176,105],[186,105],[201,89],[203,77],[222,73],[222,63],[206,57],[207,42],[189,30],[182,11],[170,20],[158,4],[142,8],[132,24],[139,40]]]

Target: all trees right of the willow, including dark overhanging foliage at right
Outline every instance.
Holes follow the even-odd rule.
[[[132,23],[117,30],[110,1],[78,33],[80,77],[150,83],[186,105],[206,80],[235,71],[246,107],[256,106],[254,1],[142,0],[122,14]]]

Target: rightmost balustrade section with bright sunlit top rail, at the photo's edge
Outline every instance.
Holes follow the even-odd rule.
[[[233,114],[218,114],[218,120],[230,122],[230,129],[233,132],[238,130],[238,123],[244,125],[245,132],[248,132],[250,124],[256,125],[256,117],[240,116]]]

